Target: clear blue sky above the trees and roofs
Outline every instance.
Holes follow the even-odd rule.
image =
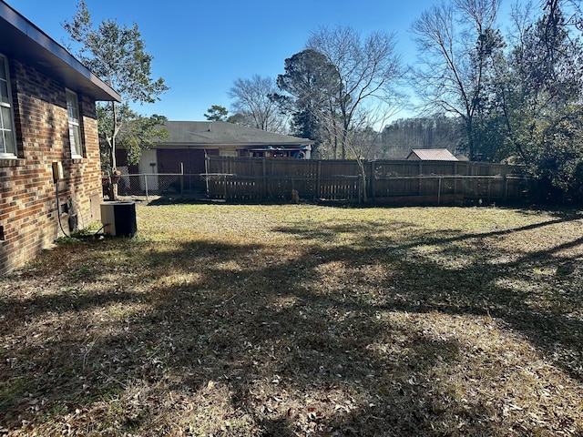
[[[77,0],[6,0],[61,43],[62,23],[77,10]],[[394,32],[404,61],[414,61],[408,30],[431,0],[294,0],[293,2],[223,0],[220,3],[178,0],[86,0],[94,24],[112,18],[118,25],[138,24],[154,56],[154,78],[169,91],[156,104],[138,107],[145,115],[169,120],[204,120],[212,105],[230,107],[227,96],[237,78],[276,77],[285,58],[305,46],[320,26],[350,25],[363,36]]]

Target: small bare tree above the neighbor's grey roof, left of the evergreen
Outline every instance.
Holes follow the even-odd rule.
[[[240,124],[276,133],[287,132],[287,119],[270,96],[277,92],[271,77],[254,75],[251,79],[236,79],[229,90],[233,112]]]

